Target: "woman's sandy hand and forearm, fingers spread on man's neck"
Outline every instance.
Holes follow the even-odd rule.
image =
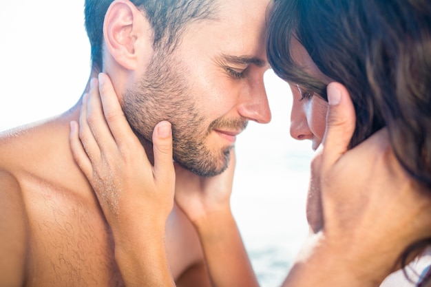
[[[126,286],[175,286],[165,251],[175,185],[171,126],[164,122],[154,129],[152,166],[113,91],[105,74],[92,81],[79,127],[71,123],[72,153],[112,228]]]

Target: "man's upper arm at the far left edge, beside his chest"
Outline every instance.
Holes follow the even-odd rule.
[[[22,286],[27,240],[19,183],[10,173],[0,170],[0,286]]]

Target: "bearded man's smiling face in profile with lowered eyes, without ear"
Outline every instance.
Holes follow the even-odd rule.
[[[271,120],[263,82],[268,3],[220,0],[218,19],[188,25],[171,54],[156,51],[123,97],[129,123],[142,138],[151,140],[154,126],[169,120],[174,159],[200,176],[226,169],[248,120]]]

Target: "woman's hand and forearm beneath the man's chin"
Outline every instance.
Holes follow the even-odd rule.
[[[201,178],[176,166],[175,200],[195,226],[213,286],[259,286],[231,212],[235,154],[226,171]]]

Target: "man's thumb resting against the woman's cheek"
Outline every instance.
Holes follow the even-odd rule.
[[[328,113],[326,114],[326,131],[322,141],[322,157],[325,164],[332,165],[347,151],[355,131],[356,114],[352,100],[344,85],[328,85]]]

